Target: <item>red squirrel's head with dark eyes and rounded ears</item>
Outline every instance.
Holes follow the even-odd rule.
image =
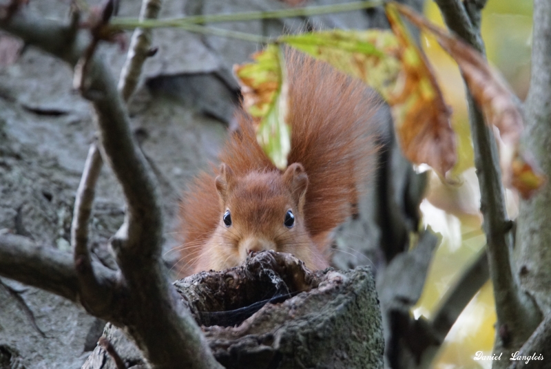
[[[207,242],[207,249],[215,250],[209,251],[209,265],[201,268],[237,266],[250,251],[262,250],[292,253],[306,266],[319,266],[315,259],[322,258],[313,254],[315,246],[304,224],[308,176],[302,165],[293,163],[283,173],[251,171],[238,176],[222,164],[215,182],[220,219]]]

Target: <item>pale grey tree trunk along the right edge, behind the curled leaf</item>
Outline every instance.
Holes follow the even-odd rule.
[[[534,0],[532,78],[525,103],[523,145],[530,147],[543,173],[551,178],[551,3]],[[544,315],[551,314],[551,181],[530,200],[522,201],[515,245],[521,286],[537,300]]]

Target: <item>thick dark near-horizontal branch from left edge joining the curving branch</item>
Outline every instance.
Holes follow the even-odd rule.
[[[116,284],[116,273],[93,262],[96,279]],[[0,275],[80,302],[79,281],[70,254],[39,246],[21,235],[0,235]]]

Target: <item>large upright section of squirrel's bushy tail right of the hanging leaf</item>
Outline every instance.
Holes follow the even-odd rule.
[[[287,65],[294,108],[289,163],[300,162],[308,174],[304,213],[315,239],[344,222],[357,203],[375,151],[377,103],[364,83],[326,63],[288,52]]]

